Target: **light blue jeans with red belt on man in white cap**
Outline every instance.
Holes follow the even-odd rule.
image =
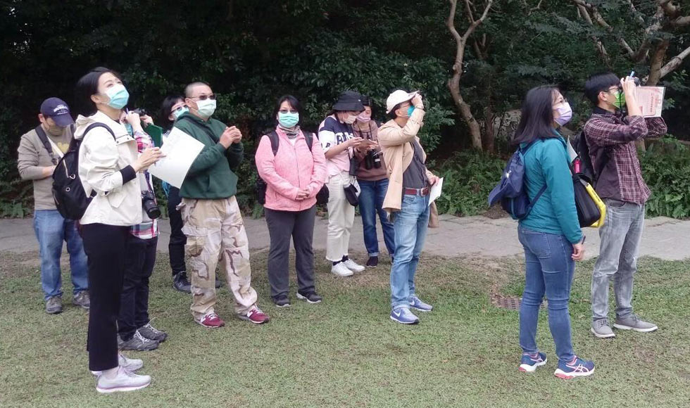
[[[395,253],[391,267],[391,305],[393,310],[409,307],[415,295],[415,273],[419,255],[427,238],[429,196],[403,196],[399,212],[394,213]]]

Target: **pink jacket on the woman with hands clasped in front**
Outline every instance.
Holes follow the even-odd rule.
[[[275,156],[268,136],[261,137],[256,149],[256,169],[268,184],[265,208],[278,211],[302,211],[316,204],[316,194],[326,181],[326,158],[321,144],[314,135],[311,151],[300,131],[295,144],[277,127],[278,151]],[[300,189],[309,192],[306,200],[296,200]]]

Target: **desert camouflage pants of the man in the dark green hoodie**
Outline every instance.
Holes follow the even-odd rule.
[[[234,196],[220,200],[182,198],[182,231],[187,236],[185,253],[189,255],[192,278],[192,315],[200,320],[214,313],[215,267],[227,275],[227,286],[234,295],[235,312],[244,314],[256,304],[251,287],[249,241],[242,214]]]

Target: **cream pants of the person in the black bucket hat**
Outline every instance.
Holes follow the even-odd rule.
[[[342,260],[348,254],[350,232],[355,221],[355,208],[345,198],[344,185],[350,177],[347,172],[328,179],[328,235],[326,238],[326,259],[331,262]],[[356,181],[355,181],[356,182]]]

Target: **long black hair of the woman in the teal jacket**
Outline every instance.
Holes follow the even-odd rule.
[[[513,143],[529,143],[537,138],[558,137],[553,129],[553,94],[559,92],[553,85],[529,89],[522,103],[520,125],[517,125]]]

